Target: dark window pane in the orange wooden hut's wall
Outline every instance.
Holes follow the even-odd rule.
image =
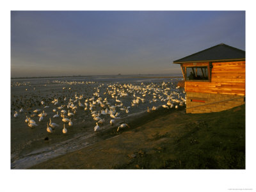
[[[187,67],[186,79],[188,80],[208,80],[207,67]]]

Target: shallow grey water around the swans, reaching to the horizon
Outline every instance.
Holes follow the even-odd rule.
[[[162,77],[161,77],[162,76]],[[93,120],[91,111],[84,111],[84,107],[78,106],[78,101],[74,102],[75,94],[77,97],[83,95],[83,99],[80,99],[84,104],[85,99],[91,99],[94,96],[94,100],[99,97],[102,101],[107,98],[110,103],[109,106],[119,105],[120,102],[116,102],[115,98],[112,98],[108,94],[108,91],[124,90],[127,96],[120,97],[118,100],[122,101],[123,106],[131,106],[132,100],[135,97],[144,98],[145,102],[141,102],[134,106],[131,106],[129,113],[121,111],[121,107],[116,107],[116,112],[120,113],[119,122],[128,122],[134,115],[147,111],[148,108],[153,106],[161,106],[168,101],[167,96],[172,93],[173,99],[183,98],[186,95],[184,90],[176,88],[177,82],[182,79],[170,78],[163,75],[161,76],[92,76],[92,77],[51,77],[51,78],[33,78],[33,79],[12,79],[11,81],[11,168],[28,168],[37,163],[41,163],[52,157],[60,156],[66,152],[77,150],[85,146],[95,143],[101,138],[97,136],[97,132],[94,132],[95,120]],[[177,74],[175,74],[177,76]],[[164,82],[164,84],[163,84]],[[124,88],[124,84],[130,84],[130,88]],[[114,90],[115,86],[115,90]],[[142,90],[148,90],[143,97]],[[98,91],[99,90],[99,91]],[[95,96],[95,93],[99,95]],[[156,94],[154,98],[153,93]],[[94,94],[94,95],[93,95]],[[135,97],[134,97],[135,95]],[[98,97],[99,96],[99,97]],[[159,99],[160,98],[162,99]],[[67,100],[63,100],[64,98]],[[66,128],[67,134],[63,134],[63,122],[61,117],[52,118],[56,112],[52,109],[57,109],[61,105],[67,106],[69,99],[73,99],[74,105],[77,106],[77,113],[72,118],[74,125]],[[52,100],[58,99],[58,104],[52,104]],[[152,101],[153,99],[157,99]],[[45,104],[42,105],[41,101],[44,100]],[[77,99],[79,100],[79,99]],[[88,101],[89,102],[92,101]],[[173,103],[175,104],[175,103]],[[179,103],[176,103],[178,105]],[[44,108],[49,106],[49,108]],[[109,106],[108,109],[109,109]],[[24,108],[24,112],[20,113],[19,109]],[[31,117],[35,109],[43,110],[47,113],[42,122],[38,122],[39,117],[36,115]],[[100,111],[102,108],[99,105],[95,105],[93,111]],[[105,109],[105,108],[104,108]],[[65,110],[68,111],[67,107]],[[18,118],[14,118],[14,112],[18,112]],[[57,109],[60,115],[60,109]],[[71,111],[71,109],[70,109]],[[26,116],[36,121],[38,124],[35,128],[28,127],[24,121]],[[137,115],[135,115],[137,116]],[[53,133],[46,131],[47,122],[51,117],[52,122],[60,125],[56,127]],[[104,129],[116,129],[118,124],[113,128],[110,126],[109,121],[111,117],[109,115],[100,115],[100,118],[104,118],[105,122],[100,125]],[[116,134],[113,134],[115,136]]]

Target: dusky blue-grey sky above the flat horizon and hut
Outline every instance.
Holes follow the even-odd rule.
[[[221,43],[245,51],[244,11],[12,11],[11,77],[180,74]]]

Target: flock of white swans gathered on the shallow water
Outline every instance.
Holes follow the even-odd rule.
[[[67,84],[83,83],[72,81]],[[62,89],[68,90],[67,87]],[[180,94],[182,90],[179,89],[179,86],[175,87],[172,82],[147,84],[111,83],[106,85],[98,83],[93,88],[91,96],[86,95],[85,97],[83,92],[81,93],[72,93],[68,95],[70,96],[69,98],[67,98],[67,95],[64,95],[63,100],[60,100],[60,98],[53,98],[51,102],[42,100],[38,108],[31,109],[33,113],[26,113],[24,122],[31,128],[44,124],[46,131],[49,133],[54,133],[57,127],[63,127],[63,134],[67,134],[68,129],[74,127],[72,120],[76,118],[76,115],[78,113],[86,113],[92,116],[92,120],[96,124],[93,130],[100,131],[102,124],[108,124],[108,122],[110,125],[116,124],[116,120],[120,119],[120,115],[127,115],[132,108],[141,104],[147,106],[146,110],[148,112],[157,109],[156,106],[149,107],[149,104],[154,104],[157,101],[161,101],[161,106],[166,109],[177,109],[179,106],[186,105],[186,97],[182,97]],[[21,108],[19,113],[15,111],[13,117],[22,118],[25,111],[26,109]],[[54,112],[54,115],[49,116],[47,113],[50,111]],[[60,118],[63,122],[62,126],[52,122]],[[116,131],[118,132],[125,127],[129,127],[129,125],[122,122],[118,124]]]

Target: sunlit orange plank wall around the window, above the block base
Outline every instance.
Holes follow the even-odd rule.
[[[211,82],[186,81],[185,91],[245,95],[245,61],[212,63]]]

